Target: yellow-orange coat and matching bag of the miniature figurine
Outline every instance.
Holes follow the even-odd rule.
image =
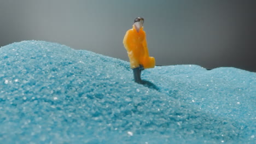
[[[123,44],[132,69],[139,67],[139,64],[143,65],[144,69],[155,67],[155,58],[149,57],[146,33],[143,31],[143,27],[137,32],[135,26],[132,26],[132,29],[126,32]]]

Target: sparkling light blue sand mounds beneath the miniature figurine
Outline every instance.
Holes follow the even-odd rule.
[[[0,48],[0,143],[255,143],[256,74],[146,69],[45,41]]]

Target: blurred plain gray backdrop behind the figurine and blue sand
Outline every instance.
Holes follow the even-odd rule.
[[[129,61],[123,37],[137,16],[157,65],[256,71],[254,0],[0,0],[0,46],[45,40]]]

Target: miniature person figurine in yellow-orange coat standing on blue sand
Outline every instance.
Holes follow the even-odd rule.
[[[132,29],[129,29],[124,37],[123,44],[127,50],[134,80],[143,84],[141,71],[155,67],[155,58],[149,57],[146,33],[143,31],[144,19],[137,17],[134,20]]]

